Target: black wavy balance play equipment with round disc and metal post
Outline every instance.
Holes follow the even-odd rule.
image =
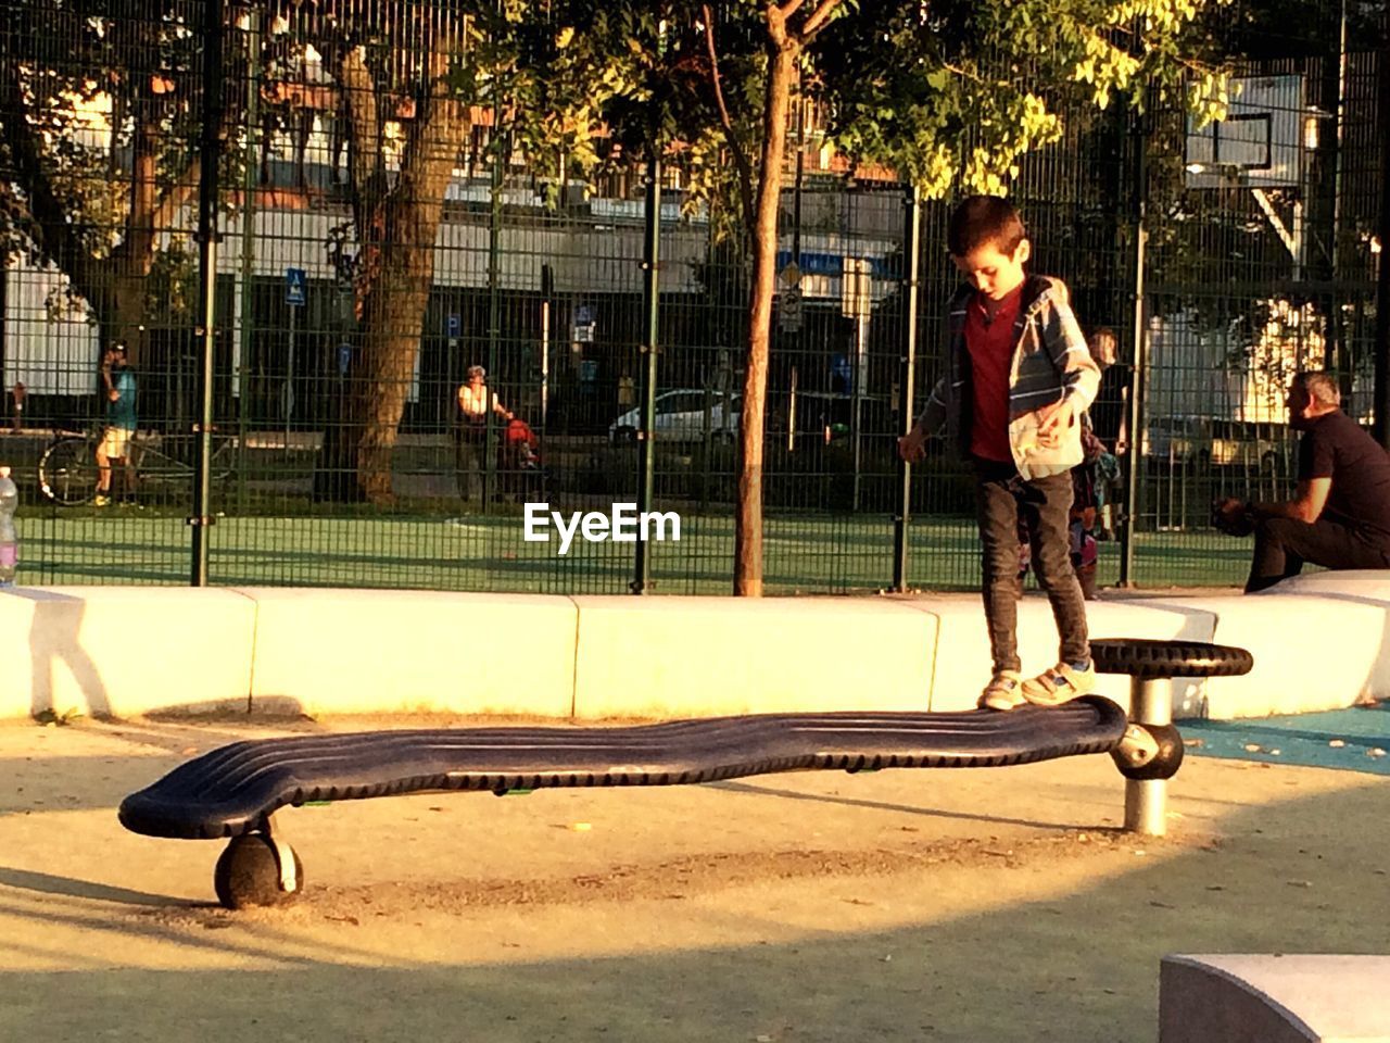
[[[562,786],[681,786],[749,775],[883,768],[1001,768],[1111,754],[1125,825],[1161,834],[1166,780],[1183,761],[1169,677],[1247,673],[1243,648],[1194,641],[1093,641],[1095,669],[1131,680],[1131,718],[1088,695],[1009,713],[766,713],[637,727],[470,727],[364,731],[232,743],[175,768],[121,802],[136,833],[231,837],[213,882],[228,908],[288,901],[303,865],[271,830],[286,805],[428,790],[505,794]]]

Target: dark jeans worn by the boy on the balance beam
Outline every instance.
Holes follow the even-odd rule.
[[[1072,474],[1024,481],[1012,463],[976,459],[976,515],[980,520],[980,565],[984,573],[984,617],[990,627],[994,669],[1020,670],[1019,662],[1019,516],[1027,524],[1033,572],[1052,605],[1061,637],[1061,662],[1091,658],[1086,633],[1086,599],[1072,567],[1068,513]]]

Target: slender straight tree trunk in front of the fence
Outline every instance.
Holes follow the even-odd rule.
[[[776,10],[776,8],[773,8]],[[799,42],[769,13],[767,92],[763,97],[763,154],[758,171],[753,225],[753,278],[748,302],[748,362],[739,424],[738,515],[734,524],[734,594],[763,594],[763,417],[767,399],[767,349],[777,288],[777,209],[787,146],[787,114]]]

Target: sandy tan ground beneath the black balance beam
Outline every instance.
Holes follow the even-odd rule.
[[[1102,757],[300,808],[303,900],[240,914],[220,844],[115,820],[363,725],[0,726],[0,1040],[1115,1043],[1166,953],[1390,951],[1390,779],[1351,772],[1188,759],[1163,841]]]

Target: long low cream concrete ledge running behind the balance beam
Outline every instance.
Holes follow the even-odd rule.
[[[1175,680],[1179,718],[1390,698],[1390,570],[1240,597],[1108,594],[1093,637],[1248,648],[1245,677]],[[1019,606],[1024,672],[1056,662]],[[632,598],[324,588],[0,591],[0,719],[43,711],[448,712],[545,718],[967,709],[988,677],[974,594]],[[1125,677],[1101,679],[1127,701]]]

